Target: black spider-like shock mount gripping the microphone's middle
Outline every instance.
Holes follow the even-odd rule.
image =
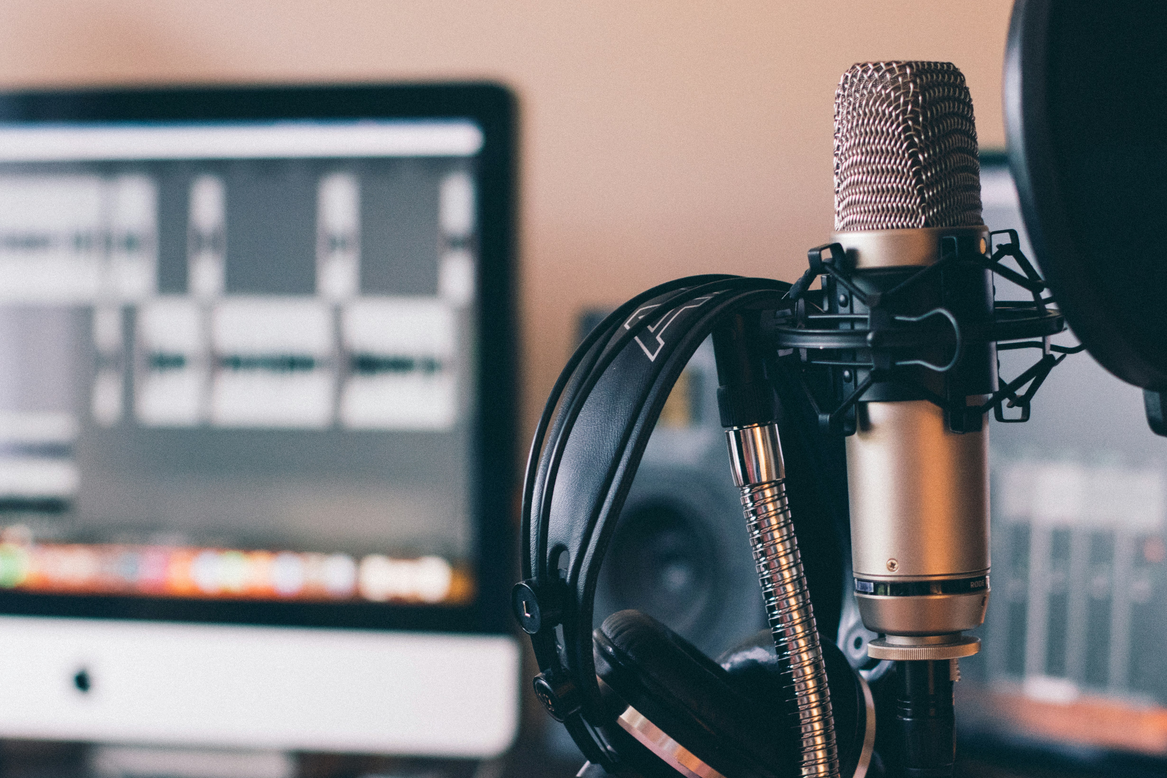
[[[998,236],[1008,240],[994,246]],[[1050,343],[1065,320],[1050,307],[1053,297],[1042,296],[1048,286],[1015,230],[990,232],[987,240],[944,237],[941,258],[918,268],[853,269],[838,243],[811,248],[808,265],[768,336],[780,362],[797,362],[794,372],[825,433],[853,434],[857,406],[868,400],[928,400],[955,433],[979,430],[990,409],[998,421],[1027,421],[1049,372],[1083,349]],[[1032,299],[995,300],[993,274]],[[816,278],[820,288],[810,289]],[[1029,348],[1041,349],[1041,358],[998,385],[988,360]],[[969,405],[973,395],[987,399]],[[1007,416],[1005,407],[1019,415]]]

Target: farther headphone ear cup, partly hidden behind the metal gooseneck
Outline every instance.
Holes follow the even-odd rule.
[[[839,776],[852,778],[882,776],[879,757],[873,758],[875,741],[875,710],[866,681],[832,640],[819,635],[826,682],[831,689],[831,712],[834,715],[834,738],[839,752]],[[731,681],[757,705],[769,708],[770,715],[790,721],[796,715],[792,703],[785,701],[785,689],[778,667],[778,656],[769,630],[740,643],[718,658]],[[789,729],[792,729],[788,724]],[[869,736],[868,736],[869,731]],[[795,743],[795,754],[798,744]]]

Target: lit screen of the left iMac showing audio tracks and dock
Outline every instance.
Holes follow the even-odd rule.
[[[0,128],[0,587],[471,598],[481,145]]]

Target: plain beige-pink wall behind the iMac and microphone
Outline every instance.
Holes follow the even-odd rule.
[[[1009,0],[2,0],[0,86],[497,78],[523,104],[530,422],[575,311],[697,272],[792,279],[831,226],[853,62],[955,62],[1000,146]]]

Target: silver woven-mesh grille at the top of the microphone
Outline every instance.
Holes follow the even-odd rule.
[[[972,98],[949,62],[852,65],[834,92],[834,229],[984,224]]]

